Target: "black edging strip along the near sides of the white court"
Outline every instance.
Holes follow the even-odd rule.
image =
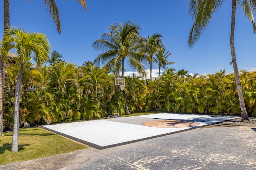
[[[230,121],[230,120],[225,120],[225,121]],[[133,141],[127,141],[127,142],[123,142],[123,143],[117,143],[117,144],[114,144],[114,145],[108,145],[108,146],[104,146],[104,147],[102,147],[102,146],[100,146],[100,145],[96,145],[96,144],[94,144],[94,143],[90,143],[90,142],[87,142],[87,141],[78,139],[78,138],[76,138],[76,137],[72,137],[72,136],[70,136],[70,135],[66,135],[65,133],[60,133],[60,132],[58,132],[58,131],[54,131],[54,130],[49,129],[49,128],[47,128],[47,127],[43,127],[43,126],[39,126],[39,127],[42,128],[42,129],[48,130],[48,131],[50,131],[50,132],[56,133],[56,134],[58,134],[58,135],[67,137],[67,138],[69,138],[69,139],[72,139],[72,140],[74,140],[74,141],[83,143],[83,144],[85,144],[85,145],[89,145],[90,147],[94,147],[94,148],[96,148],[96,149],[102,150],[102,149],[107,149],[107,148],[118,147],[118,146],[121,146],[121,145],[130,144],[130,143],[145,141],[145,140],[148,140],[148,139],[154,139],[154,138],[157,138],[157,137],[163,137],[163,136],[167,136],[167,135],[171,135],[171,134],[175,134],[175,133],[180,133],[180,132],[184,132],[184,131],[189,131],[189,130],[197,129],[197,128],[200,128],[200,127],[205,127],[205,126],[209,126],[209,125],[214,125],[214,124],[222,123],[222,122],[225,122],[225,121],[220,121],[220,122],[216,122],[216,123],[210,123],[210,124],[203,125],[203,126],[198,126],[198,127],[191,127],[191,128],[189,128],[189,129],[184,129],[184,130],[181,130],[181,131],[165,133],[165,134],[161,134],[161,135],[156,135],[156,136],[152,136],[152,137],[146,137],[146,138],[137,139],[137,140],[133,140]]]

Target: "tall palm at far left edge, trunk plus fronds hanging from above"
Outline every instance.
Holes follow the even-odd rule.
[[[66,0],[65,0],[66,1]],[[87,10],[85,0],[77,0],[84,10]],[[31,2],[31,0],[30,0]],[[57,32],[61,33],[60,18],[58,7],[55,0],[44,0],[46,9],[50,13],[51,19],[57,26]],[[10,0],[4,0],[4,31],[10,27]],[[2,111],[3,111],[3,98],[4,98],[4,77],[5,77],[6,62],[0,57],[0,133],[2,133]]]

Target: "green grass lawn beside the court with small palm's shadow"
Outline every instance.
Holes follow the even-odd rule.
[[[19,130],[19,151],[11,152],[12,132],[0,136],[0,165],[53,156],[88,148],[39,127]]]

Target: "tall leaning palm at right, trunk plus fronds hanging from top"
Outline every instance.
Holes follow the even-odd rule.
[[[232,64],[234,68],[236,88],[238,91],[238,98],[240,102],[242,122],[250,122],[248,119],[246,106],[244,104],[244,97],[241,88],[241,82],[238,72],[238,67],[236,64],[236,52],[234,45],[234,31],[235,31],[235,18],[236,18],[236,6],[237,3],[243,10],[246,18],[252,22],[254,33],[256,33],[256,25],[254,21],[253,14],[256,14],[256,2],[255,0],[232,0],[232,14],[231,14],[231,33],[230,33],[230,51],[232,57]],[[218,10],[224,3],[224,0],[190,0],[189,2],[189,12],[194,19],[194,24],[190,30],[190,35],[188,38],[188,45],[193,47],[196,41],[200,38],[201,33],[204,31],[212,19],[214,12]]]

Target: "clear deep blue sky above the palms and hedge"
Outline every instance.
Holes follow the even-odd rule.
[[[10,0],[10,25],[26,31],[40,32],[48,36],[52,50],[58,51],[67,62],[81,65],[94,61],[102,51],[94,51],[92,43],[117,22],[133,21],[141,25],[141,35],[163,35],[166,49],[172,53],[169,67],[176,71],[212,74],[220,69],[232,72],[230,54],[231,0],[214,14],[210,25],[193,49],[188,47],[188,35],[193,21],[188,14],[187,0],[86,0],[85,12],[76,0],[56,0],[62,33],[44,6],[43,0]],[[0,4],[3,14],[3,3]],[[256,17],[256,16],[254,16]],[[3,33],[3,17],[0,18]],[[252,24],[241,10],[236,13],[235,47],[238,69],[256,68],[256,35]],[[154,64],[157,69],[157,64]],[[126,71],[132,71],[126,66]],[[158,72],[158,71],[156,71]]]

